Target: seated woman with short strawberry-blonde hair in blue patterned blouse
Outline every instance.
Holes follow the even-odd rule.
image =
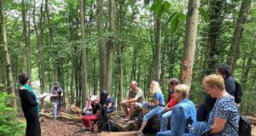
[[[201,130],[201,132],[208,131],[212,135],[230,135],[232,133],[232,136],[238,136],[239,111],[234,97],[225,90],[224,78],[216,74],[209,75],[204,78],[203,84],[207,94],[217,100],[209,115],[208,122],[205,122],[205,125],[198,125],[202,124],[202,122],[198,122],[195,126],[195,132]],[[209,127],[206,127],[207,125]],[[203,130],[202,127],[209,130]]]

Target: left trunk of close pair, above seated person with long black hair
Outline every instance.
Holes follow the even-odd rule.
[[[97,0],[97,32],[100,36],[98,41],[99,47],[99,72],[100,72],[100,91],[106,88],[106,46],[104,44],[102,33],[103,33],[103,1]]]

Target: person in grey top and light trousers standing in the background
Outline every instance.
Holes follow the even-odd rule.
[[[55,121],[57,115],[59,115],[60,110],[60,100],[62,96],[62,88],[59,82],[55,82],[55,85],[49,90],[50,102],[52,103],[53,110],[53,120]]]

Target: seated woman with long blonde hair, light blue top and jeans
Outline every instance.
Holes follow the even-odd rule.
[[[143,129],[146,127],[148,120],[153,116],[156,116],[157,113],[160,110],[162,110],[163,107],[165,106],[165,99],[164,99],[164,95],[161,92],[159,82],[152,81],[150,83],[150,94],[154,95],[154,103],[152,105],[150,102],[148,102],[147,105],[153,106],[154,109],[152,109],[145,116],[143,116],[143,124],[138,132],[138,135],[143,135]],[[145,108],[146,107],[143,107],[143,115],[145,114],[145,111],[146,111]]]

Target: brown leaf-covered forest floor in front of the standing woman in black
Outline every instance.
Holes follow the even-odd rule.
[[[64,123],[64,124],[63,124]],[[83,126],[83,123],[79,124]],[[41,122],[42,136],[71,136],[76,130],[79,130],[79,126],[74,124],[65,124],[61,120],[52,121],[49,118],[44,117],[44,122]],[[88,136],[96,135],[96,133],[76,133],[74,136]],[[256,136],[256,126],[252,125],[252,136]]]

